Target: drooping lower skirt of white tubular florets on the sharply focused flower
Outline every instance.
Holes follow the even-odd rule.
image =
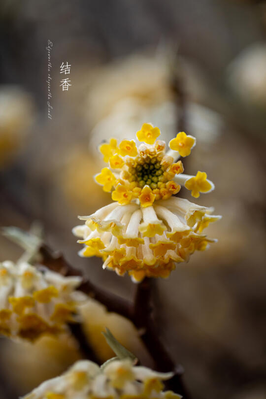
[[[119,275],[128,271],[133,281],[168,277],[176,263],[188,261],[196,250],[215,241],[202,234],[210,222],[220,219],[211,211],[176,197],[147,207],[112,202],[93,215],[81,216],[85,225],[76,226],[73,233],[84,244],[79,255],[101,257],[103,268]]]

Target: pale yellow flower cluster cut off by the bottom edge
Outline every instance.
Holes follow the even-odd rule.
[[[172,373],[159,373],[132,361],[114,360],[99,367],[88,360],[76,362],[60,377],[43,382],[24,399],[180,399],[163,391],[163,380]]]

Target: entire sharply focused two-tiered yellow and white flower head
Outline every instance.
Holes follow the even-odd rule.
[[[126,155],[121,158],[120,152],[120,156],[112,157],[121,158],[119,162],[123,163],[122,168],[113,170],[112,199],[117,202],[92,215],[80,216],[85,225],[73,229],[81,238],[78,242],[85,245],[79,252],[81,256],[99,256],[104,260],[104,268],[119,275],[128,271],[134,281],[145,276],[167,277],[176,263],[188,261],[196,250],[206,249],[213,240],[207,239],[202,230],[220,218],[210,215],[211,208],[174,197],[181,186],[192,190],[194,197],[214,188],[206,173],[186,175],[178,161],[181,154],[190,153],[196,139],[178,133],[174,145],[171,140],[166,152],[166,143],[155,141],[159,129],[154,131],[149,124],[143,126],[138,138],[153,140],[154,144],[140,144],[136,156],[124,152]],[[152,137],[146,137],[146,133]],[[130,143],[128,151],[134,154]],[[124,140],[122,147],[127,145]],[[105,169],[101,174],[107,173]]]

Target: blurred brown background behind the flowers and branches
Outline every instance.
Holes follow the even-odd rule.
[[[110,201],[93,181],[97,146],[133,138],[144,122],[166,140],[196,136],[185,171],[204,170],[216,185],[197,202],[223,215],[208,228],[219,241],[158,281],[157,323],[193,399],[265,399],[266,1],[2,0],[0,32],[0,225],[41,221],[72,266],[132,299],[130,279],[79,258],[71,233],[77,215]],[[19,255],[0,237],[0,261]],[[94,301],[85,317],[102,360],[108,325],[149,364],[128,321]],[[29,392],[79,356],[69,337],[2,338],[0,398]]]

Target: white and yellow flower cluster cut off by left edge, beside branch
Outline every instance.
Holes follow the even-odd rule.
[[[57,334],[74,321],[83,295],[75,288],[80,277],[63,277],[26,262],[0,264],[0,333],[34,340]]]

